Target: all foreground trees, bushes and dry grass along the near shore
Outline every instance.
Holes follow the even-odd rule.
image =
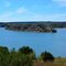
[[[41,53],[36,58],[34,51],[29,46],[18,51],[0,46],[0,66],[66,66],[66,58],[56,58],[48,52]]]

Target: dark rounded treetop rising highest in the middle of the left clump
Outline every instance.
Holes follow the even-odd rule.
[[[19,52],[28,55],[31,59],[36,59],[34,51],[29,46],[23,46],[23,47],[19,48]]]

